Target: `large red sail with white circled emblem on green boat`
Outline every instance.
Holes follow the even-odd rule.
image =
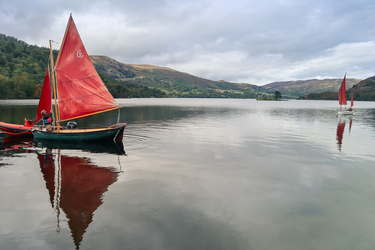
[[[90,61],[72,16],[55,71],[60,121],[120,108]]]

